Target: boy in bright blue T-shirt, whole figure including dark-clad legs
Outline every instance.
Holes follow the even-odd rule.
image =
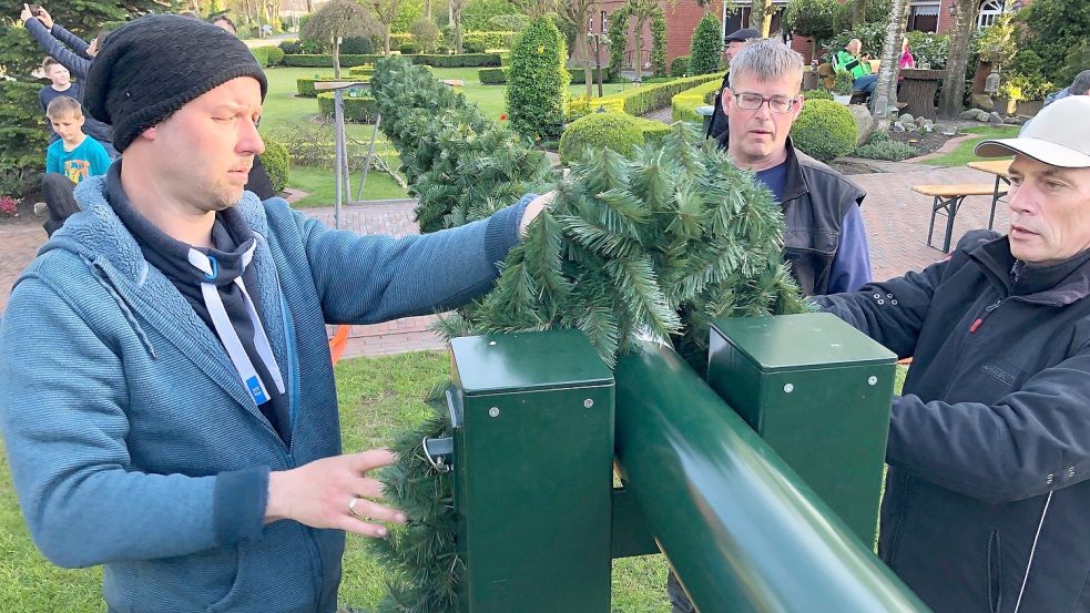
[[[64,221],[79,213],[73,192],[75,184],[89,176],[106,174],[110,156],[103,146],[83,133],[83,108],[74,99],[59,95],[45,109],[53,132],[60,136],[45,150],[45,177],[42,197],[49,218],[42,224],[52,236]]]

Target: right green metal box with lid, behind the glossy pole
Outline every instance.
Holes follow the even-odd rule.
[[[870,546],[896,356],[836,316],[720,319],[707,382]]]

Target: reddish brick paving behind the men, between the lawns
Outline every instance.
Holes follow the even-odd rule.
[[[931,168],[914,164],[888,164],[893,171],[880,174],[854,175],[852,178],[868,192],[863,206],[863,218],[870,242],[870,262],[874,278],[884,280],[920,269],[941,259],[944,254],[928,247],[927,223],[930,217],[930,200],[910,190],[921,183],[991,183],[992,175],[978,171]],[[954,225],[954,242],[966,231],[986,227],[991,200],[985,196],[966,198]],[[307,215],[333,226],[333,208],[305,208]],[[1006,232],[1006,206],[996,211],[996,228]],[[935,243],[941,244],[946,219],[935,222]],[[342,227],[361,233],[380,233],[404,236],[417,232],[412,222],[411,203],[377,204],[345,207]],[[29,264],[45,241],[40,225],[0,226],[0,310],[8,302],[11,284]],[[374,326],[353,326],[345,356],[376,356],[426,348],[441,347],[440,340],[427,330],[431,317],[408,317]]]

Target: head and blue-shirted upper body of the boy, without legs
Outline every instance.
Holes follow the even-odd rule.
[[[98,141],[83,133],[83,108],[75,99],[54,98],[45,109],[45,116],[61,137],[45,150],[47,173],[60,173],[73,184],[106,174],[110,156]]]

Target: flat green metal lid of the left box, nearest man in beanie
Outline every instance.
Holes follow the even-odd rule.
[[[613,385],[613,374],[579,330],[467,336],[450,341],[466,396]]]

